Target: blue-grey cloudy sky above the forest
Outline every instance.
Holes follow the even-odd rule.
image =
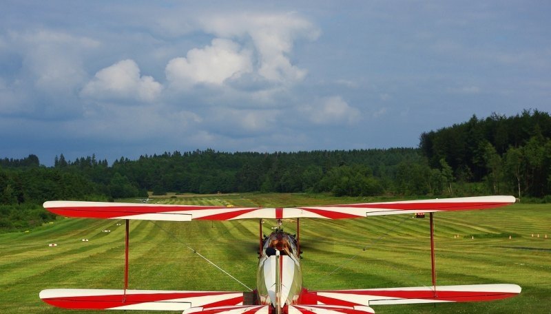
[[[551,1],[10,1],[0,158],[417,147],[551,111]]]

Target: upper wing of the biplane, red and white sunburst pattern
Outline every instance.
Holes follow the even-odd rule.
[[[45,202],[44,208],[62,216],[80,218],[134,220],[233,220],[245,218],[357,218],[393,215],[398,213],[430,213],[490,209],[514,203],[513,196],[479,196],[472,198],[443,198],[406,200],[348,205],[308,206],[290,208],[220,207],[195,205],[156,205],[115,202]]]

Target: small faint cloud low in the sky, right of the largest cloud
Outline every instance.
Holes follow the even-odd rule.
[[[353,124],[360,120],[360,110],[351,107],[340,96],[323,98],[317,105],[306,105],[302,112],[315,124]]]

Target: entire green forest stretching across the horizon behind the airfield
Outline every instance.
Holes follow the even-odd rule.
[[[510,194],[551,202],[551,116],[472,116],[425,132],[417,148],[296,152],[173,151],[109,165],[87,156],[54,166],[0,159],[0,229],[50,219],[45,200],[146,198],[176,193],[332,193],[456,197]],[[32,217],[32,219],[21,219]],[[21,224],[21,225],[19,225]]]

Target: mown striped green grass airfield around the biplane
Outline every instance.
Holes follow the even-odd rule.
[[[150,200],[264,207],[368,201],[254,193]],[[120,223],[60,217],[30,232],[0,234],[0,313],[96,313],[53,308],[41,302],[38,293],[50,288],[121,289],[124,224]],[[275,221],[268,220],[264,233],[273,225]],[[410,215],[303,219],[304,285],[312,290],[430,286],[428,227],[428,218]],[[295,222],[284,221],[284,228],[294,232]],[[112,232],[102,232],[105,229]],[[130,289],[246,290],[190,247],[247,286],[255,285],[256,220],[132,221],[130,230]],[[513,283],[522,286],[521,295],[496,302],[374,306],[377,314],[550,313],[551,205],[436,213],[435,240],[439,285]],[[58,246],[48,247],[50,243]]]

